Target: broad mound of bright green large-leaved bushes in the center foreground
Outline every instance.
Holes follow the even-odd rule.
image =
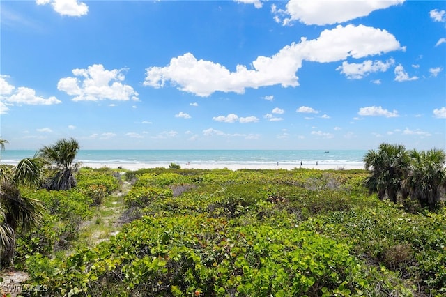
[[[366,273],[348,245],[313,231],[230,224],[205,215],[146,217],[34,275],[52,294],[75,296],[347,296],[389,285]]]

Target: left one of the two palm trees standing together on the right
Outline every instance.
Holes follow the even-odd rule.
[[[408,153],[402,144],[380,144],[378,151],[369,150],[364,156],[365,169],[371,169],[371,176],[365,180],[366,187],[370,192],[377,192],[380,200],[387,194],[396,203],[408,162]]]

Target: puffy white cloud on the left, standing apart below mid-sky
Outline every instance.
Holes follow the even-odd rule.
[[[73,69],[75,77],[59,80],[57,89],[66,92],[73,101],[98,100],[138,100],[138,93],[123,84],[125,69],[105,70],[101,64],[94,64],[87,69]],[[79,78],[78,78],[79,77]]]

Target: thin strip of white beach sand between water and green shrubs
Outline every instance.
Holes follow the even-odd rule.
[[[91,168],[102,168],[102,167],[109,167],[112,169],[117,169],[119,167],[123,169],[128,170],[137,170],[137,169],[144,169],[144,168],[169,168],[170,163],[82,163],[82,166],[84,167],[91,167]],[[237,165],[237,164],[220,164],[220,165],[213,165],[213,164],[178,164],[181,166],[182,169],[223,169],[227,168],[230,170],[240,170],[240,169],[295,169],[300,168],[301,166],[298,165],[282,165],[279,163],[277,164],[261,164],[261,165]],[[362,166],[353,166],[353,165],[321,165],[321,164],[302,164],[301,168],[306,169],[364,169]]]

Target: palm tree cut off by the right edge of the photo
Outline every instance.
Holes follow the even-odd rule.
[[[441,190],[446,188],[446,154],[443,150],[409,152],[410,165],[405,184],[410,197],[423,206],[433,207],[440,201]]]

